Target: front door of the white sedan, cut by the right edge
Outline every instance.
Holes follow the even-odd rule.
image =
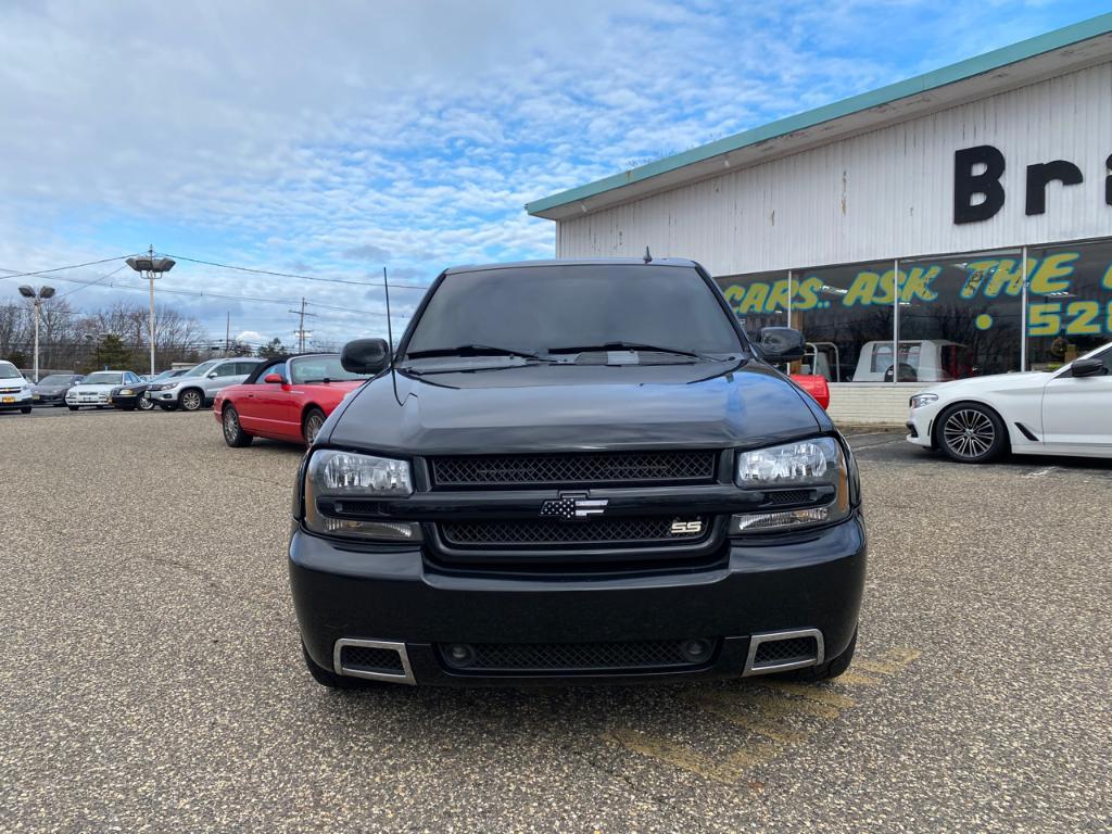
[[[1043,441],[1063,455],[1112,456],[1112,348],[1093,359],[1104,374],[1074,377],[1055,374],[1043,391]]]

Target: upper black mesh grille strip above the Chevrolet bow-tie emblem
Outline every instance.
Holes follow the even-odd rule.
[[[429,459],[439,487],[712,483],[717,453],[599,451]]]

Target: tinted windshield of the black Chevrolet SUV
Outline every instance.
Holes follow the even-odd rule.
[[[429,299],[406,356],[445,356],[464,346],[471,354],[528,356],[619,345],[699,355],[743,349],[729,315],[695,269],[569,264],[449,275]]]

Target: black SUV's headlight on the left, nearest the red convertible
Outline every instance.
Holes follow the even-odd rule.
[[[330,536],[378,542],[419,542],[420,525],[389,518],[367,518],[365,499],[413,495],[409,464],[374,455],[321,449],[305,475],[305,525]],[[364,517],[359,517],[363,515]]]

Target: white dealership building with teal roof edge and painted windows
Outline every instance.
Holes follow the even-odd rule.
[[[1112,14],[528,203],[556,256],[687,257],[803,331],[831,413],[1112,339]]]

